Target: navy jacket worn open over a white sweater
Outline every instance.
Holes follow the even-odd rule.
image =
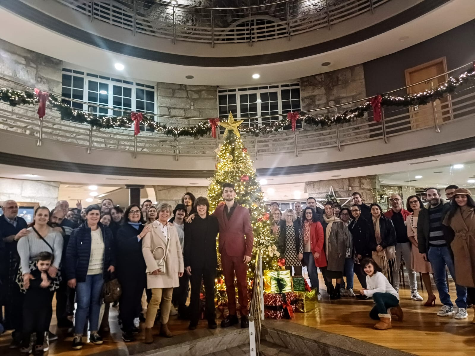
[[[97,223],[102,230],[104,241],[104,267],[105,276],[109,266],[116,266],[114,240],[111,230]],[[87,223],[74,229],[69,237],[66,249],[65,270],[67,280],[76,279],[76,282],[85,282],[87,269],[89,268],[89,257],[91,256],[91,228]]]

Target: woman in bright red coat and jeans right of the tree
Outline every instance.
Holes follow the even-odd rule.
[[[318,221],[318,215],[311,207],[307,206],[302,212],[301,228],[304,240],[304,262],[307,266],[310,283],[312,283],[312,288],[319,289],[317,267],[326,266],[326,257],[324,253],[322,255],[323,227]],[[315,251],[318,251],[318,258],[315,258]],[[320,261],[322,258],[324,264]]]

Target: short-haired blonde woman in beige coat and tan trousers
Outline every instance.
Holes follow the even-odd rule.
[[[147,264],[147,288],[152,289],[152,299],[147,308],[145,320],[145,343],[153,342],[152,327],[161,303],[160,335],[172,337],[168,329],[171,297],[173,288],[180,285],[179,277],[183,275],[183,254],[175,226],[168,222],[171,205],[161,203],[157,206],[158,220],[152,223],[152,230],[146,234],[142,242],[142,253]],[[159,269],[156,260],[160,260],[164,251],[168,252],[165,261],[165,273]],[[154,253],[155,252],[155,253]]]

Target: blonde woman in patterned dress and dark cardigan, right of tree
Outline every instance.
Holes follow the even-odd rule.
[[[293,266],[295,275],[301,276],[304,243],[294,210],[285,209],[276,235],[279,236],[279,244],[285,258],[285,269],[292,270]]]

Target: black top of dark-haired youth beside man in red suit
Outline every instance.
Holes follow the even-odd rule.
[[[183,244],[183,262],[185,267],[218,266],[216,237],[219,233],[218,218],[207,215],[205,219],[195,215],[191,223],[185,223],[185,241]]]

